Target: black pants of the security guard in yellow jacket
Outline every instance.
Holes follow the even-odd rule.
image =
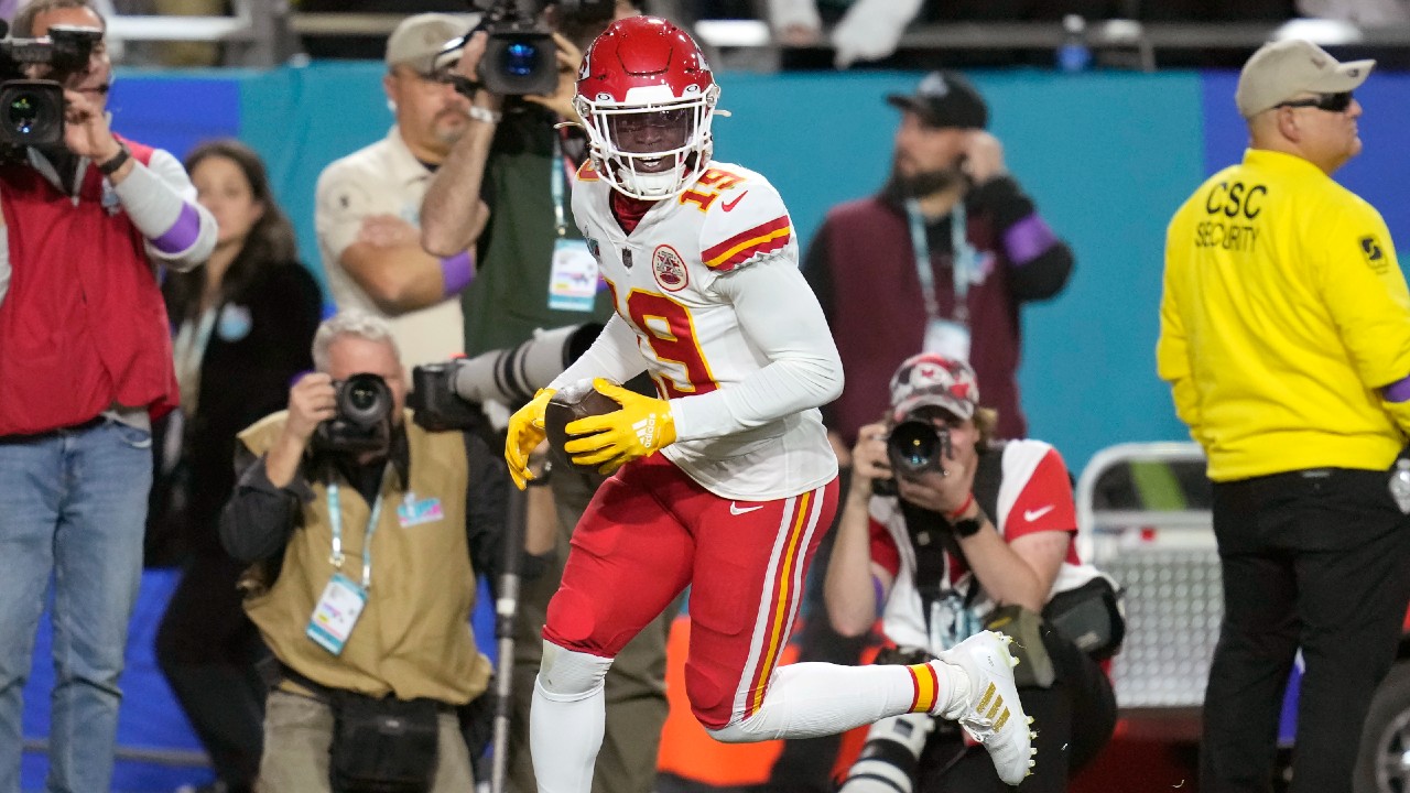
[[[1317,468],[1214,485],[1224,625],[1204,694],[1203,793],[1272,789],[1299,648],[1292,793],[1351,790],[1371,698],[1410,598],[1410,525],[1385,471]]]

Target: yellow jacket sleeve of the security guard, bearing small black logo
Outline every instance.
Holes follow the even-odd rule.
[[[1317,285],[1361,381],[1410,430],[1410,293],[1380,213],[1359,203],[1331,224]],[[1389,388],[1387,388],[1389,387]]]

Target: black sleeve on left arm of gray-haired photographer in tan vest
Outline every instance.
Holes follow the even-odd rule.
[[[283,553],[299,522],[299,505],[313,498],[303,474],[289,487],[275,487],[264,457],[244,446],[235,452],[235,490],[220,514],[220,542],[240,562],[258,562]]]

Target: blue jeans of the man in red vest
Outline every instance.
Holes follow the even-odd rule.
[[[0,793],[20,792],[21,697],[51,577],[48,789],[109,790],[151,484],[151,435],[117,422],[0,439]]]

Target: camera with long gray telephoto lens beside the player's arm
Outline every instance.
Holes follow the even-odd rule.
[[[536,330],[517,347],[415,367],[410,404],[416,423],[433,432],[472,429],[479,420],[475,405],[527,402],[578,360],[601,332],[596,322]]]

